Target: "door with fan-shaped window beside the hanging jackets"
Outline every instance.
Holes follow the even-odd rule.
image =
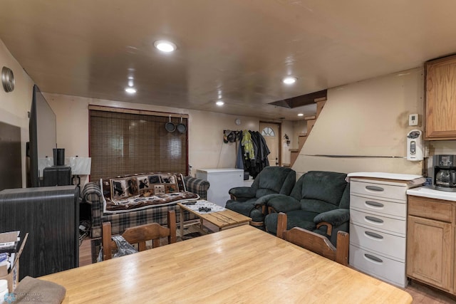
[[[277,122],[259,122],[259,132],[266,140],[269,151],[269,166],[281,166],[281,124]]]

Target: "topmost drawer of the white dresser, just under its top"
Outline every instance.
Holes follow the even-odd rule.
[[[368,196],[383,197],[384,199],[407,200],[407,187],[393,186],[390,184],[377,184],[374,182],[350,182],[351,194],[363,194]]]

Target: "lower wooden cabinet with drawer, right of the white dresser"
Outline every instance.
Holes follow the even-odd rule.
[[[456,293],[455,202],[408,196],[407,276]]]

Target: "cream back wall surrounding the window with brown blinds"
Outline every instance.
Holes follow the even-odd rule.
[[[259,127],[259,119],[225,115],[215,112],[185,110],[113,100],[98,100],[75,96],[43,93],[57,115],[57,144],[65,148],[66,157],[78,155],[88,157],[88,105],[173,112],[189,115],[189,164],[192,175],[197,169],[233,168],[236,165],[236,152],[239,142],[223,142],[223,130],[254,130]],[[240,118],[241,125],[236,125]],[[165,127],[165,125],[163,125]],[[83,180],[82,182],[86,182]]]

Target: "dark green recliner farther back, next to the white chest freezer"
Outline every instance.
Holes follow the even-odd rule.
[[[252,226],[262,227],[266,208],[258,204],[261,196],[268,194],[289,195],[296,182],[296,172],[287,167],[265,167],[255,178],[252,187],[229,189],[232,199],[227,201],[227,209],[252,218]]]

